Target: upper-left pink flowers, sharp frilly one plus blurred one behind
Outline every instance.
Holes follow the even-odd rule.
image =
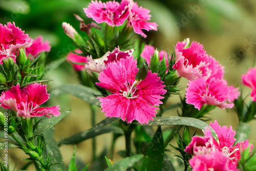
[[[48,41],[42,41],[42,37],[38,36],[36,39],[28,37],[24,34],[22,29],[15,26],[15,23],[7,23],[6,25],[0,24],[0,63],[3,64],[3,59],[13,58],[16,60],[16,51],[19,48],[24,48],[26,54],[32,56],[43,51],[49,52],[51,49]]]

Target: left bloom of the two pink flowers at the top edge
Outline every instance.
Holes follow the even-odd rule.
[[[96,23],[107,23],[110,26],[121,26],[129,17],[133,7],[132,0],[122,0],[119,4],[115,1],[102,3],[92,1],[88,8],[83,8],[89,18],[93,18]]]

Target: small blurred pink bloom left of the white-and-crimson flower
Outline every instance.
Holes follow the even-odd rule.
[[[80,49],[76,49],[74,52],[82,53],[82,51]],[[80,55],[74,54],[72,52],[68,53],[67,61],[72,65],[72,67],[75,71],[82,71],[86,67],[84,65],[77,65],[77,64],[74,64],[72,62],[81,62],[81,63],[87,63],[88,62],[87,57],[80,56]]]

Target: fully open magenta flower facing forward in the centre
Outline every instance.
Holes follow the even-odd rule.
[[[135,80],[139,69],[133,57],[113,61],[103,69],[99,75],[98,86],[110,91],[111,95],[98,97],[101,102],[102,112],[107,117],[121,117],[123,121],[131,123],[137,120],[148,123],[153,120],[158,108],[154,105],[162,104],[166,90],[156,73],[148,71],[144,80],[137,84]]]

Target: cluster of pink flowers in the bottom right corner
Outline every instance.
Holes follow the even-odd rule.
[[[236,139],[233,137],[236,131],[232,130],[232,126],[221,127],[216,120],[210,123],[210,126],[219,141],[212,137],[210,128],[206,127],[203,131],[204,137],[194,136],[185,149],[185,152],[194,155],[189,160],[192,170],[239,170],[237,165],[240,153],[249,145],[251,149],[253,145],[249,144],[248,140],[234,145]]]

